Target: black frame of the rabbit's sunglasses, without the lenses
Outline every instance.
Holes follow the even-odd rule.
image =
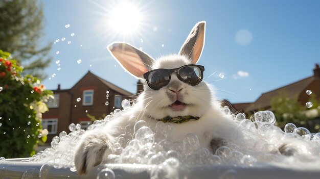
[[[179,67],[179,68],[173,68],[173,69],[165,69],[165,68],[153,69],[153,70],[150,70],[150,71],[144,73],[144,74],[143,74],[143,78],[146,79],[147,84],[148,84],[148,86],[149,86],[151,89],[153,89],[153,90],[159,90],[159,89],[161,89],[162,87],[167,86],[167,85],[169,84],[169,82],[170,82],[170,80],[171,80],[171,74],[174,73],[174,72],[177,74],[178,79],[179,79],[181,82],[184,82],[184,79],[181,78],[181,76],[179,75],[178,71],[179,71],[179,69],[184,68],[184,67],[186,67],[186,66],[196,66],[196,67],[198,67],[198,68],[200,69],[200,71],[201,71],[201,79],[199,80],[198,83],[196,83],[196,84],[189,84],[189,83],[187,83],[187,84],[189,84],[189,85],[191,85],[191,86],[196,86],[196,85],[198,85],[199,83],[201,83],[202,80],[203,80],[204,66],[202,66],[202,65],[196,65],[196,64],[184,65],[184,66],[181,66],[181,67]],[[153,85],[152,83],[149,83],[149,82],[148,82],[148,77],[149,77],[149,75],[151,74],[151,72],[156,71],[156,70],[159,70],[159,69],[166,70],[166,71],[169,73],[169,80],[167,80],[166,85],[161,86],[161,87],[157,87],[157,86]],[[184,83],[186,83],[186,82],[184,82]]]

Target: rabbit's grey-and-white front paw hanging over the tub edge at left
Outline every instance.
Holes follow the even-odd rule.
[[[76,149],[75,165],[80,175],[99,165],[106,154],[111,154],[109,137],[102,131],[83,136]]]

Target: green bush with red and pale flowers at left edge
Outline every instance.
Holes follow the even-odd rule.
[[[53,92],[45,90],[32,75],[22,76],[23,68],[0,50],[0,157],[29,157],[35,153],[43,103]]]

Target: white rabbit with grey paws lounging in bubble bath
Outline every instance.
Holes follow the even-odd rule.
[[[182,45],[178,55],[170,55],[153,60],[141,50],[127,43],[112,43],[108,49],[112,56],[135,78],[142,79],[147,71],[159,68],[173,69],[188,64],[196,64],[201,56],[205,36],[205,22],[198,22]],[[199,74],[200,75],[200,74]],[[168,80],[168,79],[166,79]],[[215,151],[226,142],[236,143],[241,133],[231,115],[225,115],[215,99],[211,87],[201,81],[190,85],[178,78],[177,72],[171,73],[169,83],[158,90],[144,84],[137,103],[124,110],[116,119],[111,120],[103,129],[87,131],[81,138],[75,154],[75,165],[79,174],[86,174],[101,163],[104,156],[111,154],[113,139],[121,134],[118,130],[138,120],[144,120],[151,129],[159,119],[167,116],[197,116],[198,120],[172,123],[171,138],[182,141],[193,133],[199,138],[200,145]]]

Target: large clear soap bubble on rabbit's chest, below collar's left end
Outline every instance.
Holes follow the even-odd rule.
[[[139,145],[152,146],[154,143],[152,130],[147,126],[140,127],[140,129],[135,133],[135,140]]]

